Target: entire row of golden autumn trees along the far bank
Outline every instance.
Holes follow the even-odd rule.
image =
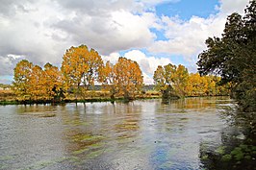
[[[156,89],[164,98],[176,96],[201,96],[227,94],[227,88],[218,86],[220,78],[200,77],[189,74],[183,65],[167,64],[158,66],[154,73]],[[43,68],[30,61],[19,61],[14,68],[13,89],[22,100],[60,100],[65,92],[75,94],[75,98],[86,99],[91,86],[101,84],[116,95],[126,99],[141,93],[142,72],[136,61],[119,58],[115,64],[105,64],[100,55],[86,45],[66,50],[61,70],[50,63]],[[225,91],[226,90],[226,91]]]

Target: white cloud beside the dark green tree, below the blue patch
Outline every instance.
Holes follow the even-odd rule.
[[[205,46],[209,36],[221,36],[226,17],[231,12],[243,13],[248,0],[220,0],[218,13],[208,18],[192,16],[190,20],[181,20],[178,16],[162,16],[161,23],[167,40],[157,40],[148,47],[149,52],[183,56],[195,65],[197,56]],[[194,68],[192,68],[194,70]]]

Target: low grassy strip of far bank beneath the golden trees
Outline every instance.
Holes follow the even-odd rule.
[[[8,85],[7,85],[8,86]],[[194,96],[184,96],[180,97],[177,95],[172,95],[168,99],[175,100],[185,97],[215,97],[215,96],[228,96],[228,95],[194,95]],[[38,100],[30,100],[30,99],[20,99],[18,98],[12,89],[0,89],[0,106],[5,105],[34,105],[34,104],[41,104],[41,105],[62,105],[67,103],[93,103],[93,102],[129,102],[134,100],[146,100],[146,99],[163,99],[163,95],[160,91],[156,90],[147,90],[142,91],[141,94],[135,96],[135,98],[125,99],[123,96],[115,96],[115,98],[111,97],[110,91],[106,90],[90,90],[87,92],[87,97],[83,98],[82,96],[75,98],[74,94],[69,94],[63,100],[45,100],[45,99],[38,99]]]

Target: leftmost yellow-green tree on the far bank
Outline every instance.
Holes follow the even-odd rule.
[[[27,60],[19,61],[14,68],[14,93],[25,99],[29,95],[29,81],[33,63]]]

